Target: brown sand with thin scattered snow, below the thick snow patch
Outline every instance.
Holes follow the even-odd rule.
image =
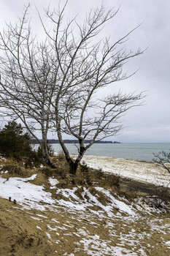
[[[0,199],[0,255],[164,255],[170,252],[166,214],[114,218],[89,211],[24,210]]]

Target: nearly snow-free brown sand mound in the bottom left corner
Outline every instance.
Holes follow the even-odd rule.
[[[26,211],[0,198],[0,255],[53,255],[42,230]]]

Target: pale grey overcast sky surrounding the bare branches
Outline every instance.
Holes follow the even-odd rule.
[[[30,0],[30,17],[34,30],[39,31],[35,6],[40,12],[43,7],[57,8],[58,0]],[[61,3],[63,1],[61,0]],[[145,105],[134,108],[123,117],[125,128],[121,135],[112,140],[120,142],[167,142],[170,143],[170,1],[169,0],[103,0],[107,9],[120,7],[116,17],[104,28],[104,34],[112,41],[139,26],[129,37],[127,48],[147,50],[142,56],[126,64],[129,73],[138,72],[128,80],[117,83],[122,91],[146,91]],[[0,24],[4,20],[14,22],[22,15],[26,0],[0,0]],[[69,0],[66,16],[79,13],[82,20],[92,7],[101,4],[99,0]],[[106,89],[114,92],[115,84]]]

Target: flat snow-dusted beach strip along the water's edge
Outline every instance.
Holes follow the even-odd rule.
[[[89,167],[94,169],[114,173],[123,178],[131,178],[136,181],[170,187],[170,173],[153,162],[89,155],[85,155],[83,160]]]

